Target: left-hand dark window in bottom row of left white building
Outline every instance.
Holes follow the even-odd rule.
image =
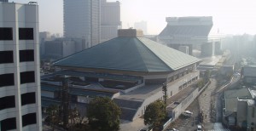
[[[11,129],[16,129],[16,118],[8,118],[4,119],[0,123],[0,130],[6,131],[6,130],[11,130]]]

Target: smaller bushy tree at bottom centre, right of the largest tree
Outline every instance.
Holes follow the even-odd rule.
[[[144,113],[144,124],[151,125],[152,128],[158,128],[161,122],[166,118],[166,105],[163,101],[157,100],[149,104]]]

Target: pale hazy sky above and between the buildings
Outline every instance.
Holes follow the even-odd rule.
[[[40,31],[63,32],[62,0],[9,0],[39,5]],[[75,2],[75,0],[72,0]],[[108,0],[116,1],[116,0]],[[212,32],[256,34],[256,0],[119,0],[123,28],[147,21],[148,33],[159,34],[166,17],[212,16]]]

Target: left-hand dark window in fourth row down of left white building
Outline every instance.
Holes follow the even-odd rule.
[[[15,107],[15,95],[0,98],[0,111]]]

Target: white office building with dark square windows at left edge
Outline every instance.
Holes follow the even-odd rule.
[[[35,3],[0,3],[0,130],[42,130]]]

